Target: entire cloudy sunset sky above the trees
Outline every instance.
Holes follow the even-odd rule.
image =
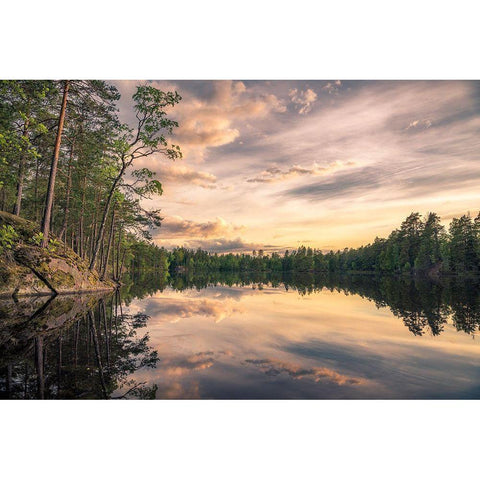
[[[136,85],[115,81],[133,123]],[[172,143],[138,168],[164,194],[155,243],[211,252],[358,247],[412,211],[480,209],[478,81],[149,81],[176,90]]]

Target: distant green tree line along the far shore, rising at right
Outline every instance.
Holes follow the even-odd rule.
[[[246,253],[211,254],[178,247],[158,249],[157,263],[170,272],[372,272],[391,274],[480,272],[480,214],[454,218],[448,228],[440,217],[424,218],[411,213],[388,238],[375,238],[359,248],[323,252],[299,247],[283,254],[263,250]]]

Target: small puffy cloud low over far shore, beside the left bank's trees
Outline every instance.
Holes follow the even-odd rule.
[[[158,233],[158,239],[202,237],[211,238],[229,235],[242,230],[242,226],[235,226],[217,217],[214,221],[195,222],[180,216],[166,217]]]

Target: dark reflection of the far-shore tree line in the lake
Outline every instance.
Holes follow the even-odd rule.
[[[375,302],[378,308],[390,308],[396,317],[403,320],[409,331],[417,336],[427,333],[440,335],[449,320],[458,331],[468,334],[475,334],[480,329],[479,277],[429,279],[359,274],[223,272],[178,275],[169,279],[143,275],[136,278],[133,284],[137,290],[143,285],[148,294],[166,287],[183,291],[217,285],[250,286],[256,289],[269,286],[287,291],[295,290],[300,295],[310,295],[327,289],[347,295],[359,295]]]

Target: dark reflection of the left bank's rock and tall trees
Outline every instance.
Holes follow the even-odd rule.
[[[0,319],[4,398],[155,397],[155,385],[128,380],[158,355],[136,332],[147,318],[123,314],[119,292],[3,302]]]

